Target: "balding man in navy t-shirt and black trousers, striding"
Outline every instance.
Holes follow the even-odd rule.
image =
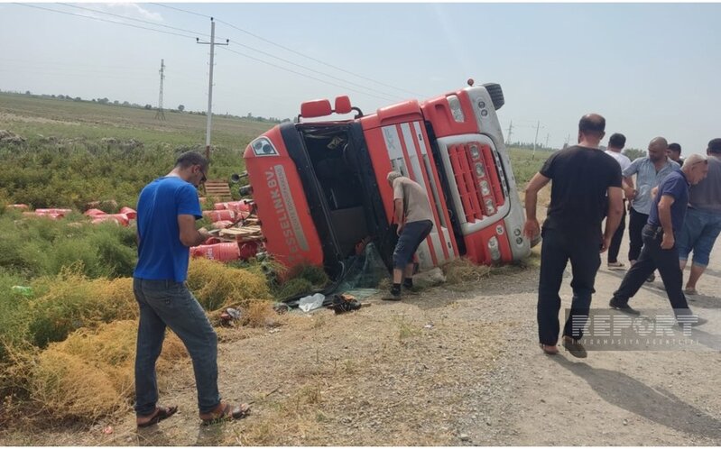
[[[663,286],[669,296],[673,313],[689,316],[689,303],[683,294],[683,273],[679,266],[679,249],[676,238],[681,229],[689,206],[689,185],[698,184],[706,178],[708,160],[700,154],[692,154],[683,164],[681,170],[674,170],[661,182],[658,194],[654,198],[649,219],[642,230],[643,247],[636,263],[628,270],[624,280],[614,292],[609,303],[622,312],[640,315],[638,310],[628,305],[629,298],[641,289],[646,278],[658,268]],[[696,323],[686,321],[691,325]]]

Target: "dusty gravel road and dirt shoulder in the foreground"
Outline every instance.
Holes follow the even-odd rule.
[[[605,307],[623,273],[597,277]],[[699,283],[721,291],[718,251]],[[569,279],[561,289],[563,307]],[[341,316],[321,310],[280,327],[222,331],[220,387],[253,400],[240,422],[199,426],[189,361],[161,385],[176,417],[143,431],[128,413],[88,429],[8,429],[2,444],[32,445],[718,445],[718,348],[565,351],[537,347],[537,269],[508,269],[472,285],[427,289],[400,303],[371,298]],[[633,299],[669,307],[660,281]],[[721,334],[721,298],[691,307]],[[711,344],[713,345],[713,344]],[[112,434],[102,429],[112,426]]]

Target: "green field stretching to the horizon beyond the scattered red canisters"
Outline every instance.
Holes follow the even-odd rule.
[[[182,151],[205,149],[206,117],[117,105],[0,94],[0,203],[71,206],[115,199],[134,206],[141,188],[167,173]],[[243,151],[273,124],[214,117],[210,179],[244,170]]]

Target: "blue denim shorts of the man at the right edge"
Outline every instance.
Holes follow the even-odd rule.
[[[698,267],[708,265],[708,256],[714,248],[716,237],[721,233],[721,214],[689,207],[683,229],[679,234],[679,259],[689,259],[693,251],[693,264]]]

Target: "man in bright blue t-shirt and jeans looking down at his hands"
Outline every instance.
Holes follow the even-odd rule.
[[[245,417],[250,408],[230,406],[217,390],[217,334],[203,307],[193,297],[188,277],[189,247],[210,236],[196,230],[202,217],[198,186],[205,182],[208,160],[184,152],[175,168],[143,188],[137,205],[138,263],[133,291],[140,307],[135,354],[135,414],[138,427],[153,426],[178,411],[158,407],[155,362],[162,351],[165,328],[180,337],[193,361],[200,419],[210,424]]]

